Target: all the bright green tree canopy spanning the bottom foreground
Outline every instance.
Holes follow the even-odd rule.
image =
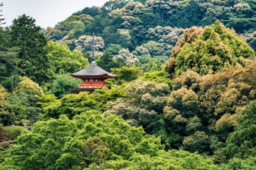
[[[163,151],[160,139],[144,135],[121,117],[84,112],[73,120],[37,122],[10,146],[2,169],[214,169],[210,159],[185,151]],[[43,157],[43,159],[42,159]],[[191,163],[189,160],[196,159]],[[156,161],[158,160],[158,161]]]

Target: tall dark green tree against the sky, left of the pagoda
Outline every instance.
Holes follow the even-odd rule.
[[[20,75],[30,77],[36,83],[51,81],[53,71],[49,69],[49,58],[46,57],[44,46],[46,38],[40,27],[36,26],[36,20],[25,14],[13,20],[9,28],[9,46],[18,46],[21,59],[19,67]]]

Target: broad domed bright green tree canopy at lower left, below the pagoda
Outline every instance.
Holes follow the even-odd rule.
[[[98,165],[98,161],[128,160],[135,153],[145,155],[150,151],[150,155],[158,155],[163,148],[159,138],[143,134],[142,128],[131,127],[114,115],[104,118],[96,112],[85,112],[73,120],[61,116],[58,120],[37,122],[31,132],[22,133],[1,168],[84,168],[95,161]],[[63,162],[67,158],[72,161]]]

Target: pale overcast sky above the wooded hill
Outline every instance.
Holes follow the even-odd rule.
[[[26,14],[36,19],[42,28],[53,27],[72,13],[84,7],[102,6],[107,0],[0,0],[5,26],[10,26],[13,19]]]

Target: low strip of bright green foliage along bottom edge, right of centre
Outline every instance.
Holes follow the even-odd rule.
[[[101,166],[91,165],[89,169],[216,169],[212,160],[202,159],[199,155],[187,153],[185,151],[160,151],[158,155],[150,157],[149,155],[134,154],[129,161],[111,160],[106,161]]]

